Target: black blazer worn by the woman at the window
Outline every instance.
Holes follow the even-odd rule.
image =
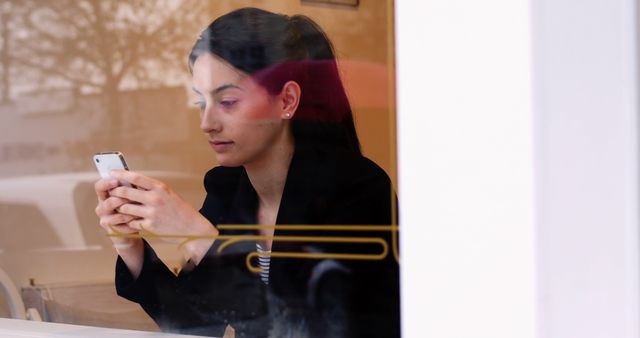
[[[257,195],[242,167],[216,167],[204,179],[200,212],[213,224],[256,224]],[[395,195],[385,172],[346,152],[296,148],[276,225],[390,225]],[[255,234],[221,230],[221,235]],[[227,324],[238,337],[399,337],[399,271],[390,231],[337,231],[276,227],[273,253],[379,255],[379,260],[272,257],[269,284],[250,272],[255,242],[220,252],[217,240],[192,271],[175,276],[145,243],[140,276],[116,264],[118,294],[140,303],[166,331],[222,336]],[[288,236],[349,237],[348,242],[286,241]],[[355,238],[355,240],[354,240]],[[358,239],[367,243],[354,243]],[[381,255],[382,256],[382,255]],[[369,257],[369,256],[367,256]],[[252,264],[257,265],[256,262]]]

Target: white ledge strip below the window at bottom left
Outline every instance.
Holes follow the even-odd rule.
[[[102,327],[35,322],[21,319],[0,318],[2,338],[202,338],[162,332],[107,329]]]

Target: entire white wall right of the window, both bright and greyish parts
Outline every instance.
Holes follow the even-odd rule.
[[[404,336],[640,336],[635,1],[396,11]]]

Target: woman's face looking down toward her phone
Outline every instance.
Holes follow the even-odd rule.
[[[268,161],[287,141],[278,96],[271,96],[250,76],[212,54],[193,64],[200,128],[222,166]]]

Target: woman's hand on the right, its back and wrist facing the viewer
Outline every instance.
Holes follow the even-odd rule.
[[[118,186],[109,194],[118,198],[115,210],[128,216],[128,227],[147,231],[182,247],[185,259],[198,264],[218,235],[217,229],[166,184],[126,170],[114,170],[111,177],[137,186]],[[114,204],[118,204],[114,202]],[[123,218],[124,219],[124,218]],[[205,237],[194,240],[194,237]]]

